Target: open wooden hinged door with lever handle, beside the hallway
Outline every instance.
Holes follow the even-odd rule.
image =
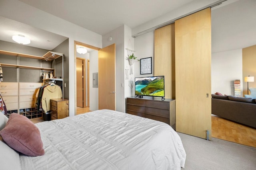
[[[99,50],[99,109],[116,110],[116,45]]]

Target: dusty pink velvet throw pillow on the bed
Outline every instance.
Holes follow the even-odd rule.
[[[12,113],[2,131],[5,143],[12,149],[28,156],[44,154],[40,131],[27,117]]]

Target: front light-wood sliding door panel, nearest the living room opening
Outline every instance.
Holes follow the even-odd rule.
[[[176,131],[211,139],[211,10],[175,21]]]

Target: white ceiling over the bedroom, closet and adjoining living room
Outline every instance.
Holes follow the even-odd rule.
[[[20,0],[100,35],[121,25],[134,28],[193,0]],[[232,2],[232,3],[231,3]],[[159,10],[161,9],[161,10]],[[212,52],[256,45],[256,0],[228,0],[212,8]],[[0,40],[12,35],[31,39],[29,46],[52,50],[67,37],[0,16]]]

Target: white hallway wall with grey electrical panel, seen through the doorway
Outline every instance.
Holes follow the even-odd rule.
[[[98,72],[98,51],[90,52],[90,110],[99,109],[99,90],[92,87],[92,73]]]

